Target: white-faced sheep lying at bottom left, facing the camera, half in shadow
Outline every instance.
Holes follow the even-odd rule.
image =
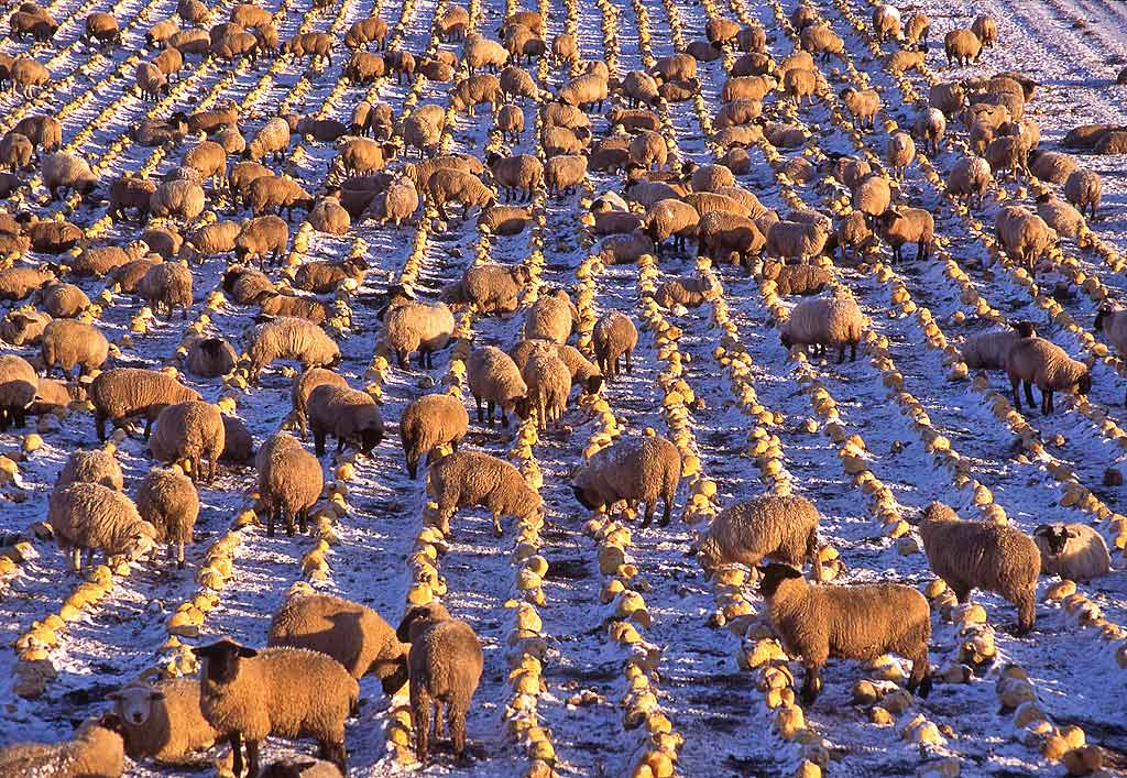
[[[125,753],[133,760],[192,764],[216,740],[199,710],[199,681],[169,678],[150,686],[135,681],[106,699],[122,719]]]

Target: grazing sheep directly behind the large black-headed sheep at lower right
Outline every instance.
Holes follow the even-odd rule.
[[[796,495],[760,495],[725,509],[696,546],[707,572],[720,565],[755,567],[771,558],[801,568],[818,564],[818,509]]]

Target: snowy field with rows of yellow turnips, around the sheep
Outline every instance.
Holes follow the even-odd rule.
[[[234,5],[214,0],[201,26],[227,20]],[[34,167],[20,174],[29,180],[7,207],[39,218],[59,214],[80,227],[89,245],[125,245],[145,227],[110,215],[108,183],[126,174],[159,179],[198,140],[189,135],[176,147],[145,148],[133,140],[134,127],[228,100],[238,106],[248,141],[285,112],[348,124],[357,104],[382,101],[398,127],[419,106],[437,104],[447,109],[442,152],[543,159],[543,117],[532,100],[523,101],[525,131],[513,143],[491,131],[489,106],[477,106],[472,117],[455,113],[450,82],[397,80],[391,72],[370,83],[343,78],[350,55],[345,33],[372,16],[388,21],[391,51],[420,60],[438,51],[460,56],[461,42],[436,32],[451,6],[336,0],[313,9],[265,0],[283,42],[328,33],[331,63],[314,68],[296,56],[264,56],[252,67],[187,55],[169,92],[143,100],[134,73],[154,53],[145,47],[145,33],[176,16],[177,3],[55,0],[47,6],[60,24],[52,42],[0,43],[0,52],[34,56],[52,76],[32,97],[0,94],[0,131],[26,116],[53,115],[62,123],[62,150],[90,161],[101,180],[86,201],[78,194],[52,201]],[[798,45],[791,23],[797,7],[797,0],[543,0],[530,10],[541,15],[549,47],[554,36],[573,35],[584,60],[605,61],[611,76],[622,78],[704,41],[706,26],[721,18],[762,25],[766,53],[782,62]],[[872,39],[872,7],[819,0],[810,8],[844,48],[816,58],[813,103],[796,106],[781,91],[764,98],[764,116],[793,125],[800,138],[792,144],[774,138],[777,147],[758,133],[746,149],[747,171],[737,176],[782,218],[805,209],[837,224],[850,210],[850,191],[833,177],[834,159],[884,160],[889,138],[912,127],[937,83],[1000,71],[1027,74],[1038,86],[1026,116],[1039,123],[1042,150],[1062,150],[1077,125],[1127,123],[1127,86],[1116,85],[1127,65],[1127,11],[1119,3],[985,0],[970,7],[924,0],[915,9],[931,19],[926,64],[899,74],[886,62],[897,44]],[[470,27],[497,39],[517,10],[517,0],[472,0]],[[114,14],[119,46],[100,48],[80,37],[94,11]],[[949,68],[943,34],[969,27],[977,14],[996,20],[997,45],[976,64]],[[905,10],[905,19],[909,15]],[[690,99],[660,100],[654,108],[672,158],[707,165],[725,156],[713,139],[726,69],[742,54],[733,48],[698,63]],[[583,67],[557,64],[548,55],[526,64],[545,101]],[[459,68],[455,80],[467,76],[464,63]],[[871,130],[852,125],[841,96],[845,87],[879,94]],[[601,112],[589,109],[596,141],[613,132],[604,114],[625,104],[618,96]],[[405,604],[437,598],[482,646],[485,670],[469,711],[463,763],[447,743],[427,767],[412,763],[406,690],[389,699],[376,679],[365,678],[360,713],[347,726],[352,776],[1059,776],[1066,762],[1077,775],[1099,763],[1102,775],[1120,775],[1127,769],[1127,519],[1119,513],[1127,499],[1127,430],[1120,426],[1127,424],[1127,363],[1097,328],[1095,316],[1106,300],[1127,299],[1124,157],[1067,150],[1102,177],[1102,204],[1077,237],[1053,244],[1035,279],[999,244],[994,218],[1011,204],[1036,210],[1038,195],[1061,195],[1063,187],[997,173],[985,203],[968,207],[946,194],[946,182],[971,153],[969,143],[967,126],[950,120],[938,151],[917,141],[914,162],[894,183],[894,203],[934,216],[929,258],[916,260],[908,246],[905,260],[894,265],[888,245],[879,242],[860,259],[838,253],[816,260],[832,272],[823,297],[852,298],[864,317],[855,361],[846,353],[841,363],[833,348],[808,356],[781,344],[780,328],[805,298],[780,295],[758,258],[748,272],[667,246],[637,263],[604,262],[589,205],[602,193],[624,189],[621,173],[588,170],[576,191],[561,196],[538,188],[527,203],[530,223],[515,236],[479,231],[474,210],[462,220],[456,205],[449,220],[424,205],[400,227],[354,218],[340,236],[312,229],[299,209],[284,255],[267,263],[266,272],[285,286],[304,263],[367,263],[362,282],[346,281],[319,299],[331,308],[325,328],[341,352],[335,370],[380,404],[382,442],[371,456],[329,449],[320,458],[326,488],[308,534],[267,537],[254,512],[254,463],[224,463],[214,483],[198,484],[199,518],[183,569],[162,552],[156,562],[118,563],[81,577],[69,571],[42,522],[68,457],[99,445],[89,406],[76,401],[65,414],[29,418],[25,428],[5,432],[0,745],[70,737],[79,722],[106,709],[107,693],[139,675],[195,673],[190,647],[218,636],[264,645],[270,615],[291,593],[312,589],[364,603],[393,625]],[[418,161],[415,153],[408,150],[405,159],[400,149],[389,167]],[[263,161],[320,195],[340,178],[336,157],[331,141],[294,133],[284,161]],[[229,161],[237,162],[237,154]],[[482,178],[490,183],[488,171]],[[199,223],[251,215],[232,209],[225,187],[204,188]],[[184,366],[198,335],[227,338],[241,353],[243,334],[256,324],[258,308],[237,304],[224,289],[224,274],[238,264],[232,254],[190,264],[194,303],[181,319],[179,312],[156,315],[112,279],[78,275],[69,265],[81,249],[33,250],[17,264],[54,263],[62,281],[86,292],[92,303],[81,316],[115,344],[104,369],[174,368],[205,400],[242,419],[256,444],[289,428],[296,362],[274,363],[257,384],[246,371],[205,379]],[[400,368],[381,344],[389,286],[407,284],[434,302],[482,262],[527,268],[521,309],[486,316],[461,308],[433,368],[418,366],[416,357]],[[703,304],[655,302],[662,284],[687,277],[704,279],[711,289]],[[621,311],[633,320],[639,339],[631,372],[577,401],[574,392],[560,426],[538,430],[534,417],[507,427],[480,423],[465,378],[472,350],[507,351],[522,337],[525,310],[557,289],[577,306],[570,342],[588,356],[601,317]],[[3,304],[16,310],[25,302]],[[1041,414],[1037,405],[1019,412],[1004,371],[967,369],[958,350],[964,338],[1018,319],[1032,321],[1040,337],[1090,366],[1086,397],[1058,391],[1054,414]],[[42,374],[38,347],[2,347]],[[542,522],[534,513],[505,518],[504,537],[497,538],[489,512],[478,507],[459,511],[446,537],[429,525],[434,509],[425,474],[420,468],[418,478],[408,477],[397,423],[411,400],[431,391],[465,403],[463,450],[518,467],[544,502]],[[655,433],[682,458],[668,525],[641,528],[632,512],[607,518],[576,501],[571,478],[585,458],[615,439]],[[140,424],[115,441],[110,447],[132,496],[157,462]],[[312,441],[307,448],[312,451]],[[926,593],[935,680],[926,699],[894,691],[906,680],[908,663],[887,655],[871,663],[831,660],[822,696],[806,706],[795,699],[791,675],[797,692],[801,663],[782,658],[754,574],[731,568],[709,577],[691,550],[721,510],[764,492],[816,504],[820,557],[835,583],[893,581]],[[1028,533],[1048,522],[1089,524],[1111,551],[1111,572],[1079,584],[1042,576],[1036,627],[1017,636],[1017,611],[1001,596],[977,591],[971,601],[980,608],[956,607],[935,583],[914,529],[933,501],[966,520],[1008,522]],[[870,699],[854,686],[862,679],[873,683]],[[1095,748],[1076,751],[1085,744]],[[264,763],[313,748],[272,739]],[[224,751],[203,755],[194,768],[127,762],[125,775],[212,775]],[[1091,760],[1088,768],[1081,754]]]

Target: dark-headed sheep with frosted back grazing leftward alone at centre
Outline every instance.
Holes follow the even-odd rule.
[[[646,503],[642,527],[649,527],[658,498],[665,502],[662,527],[673,515],[681,480],[681,454],[664,437],[619,439],[596,452],[573,479],[576,499],[588,511],[609,510],[620,499],[631,509]]]

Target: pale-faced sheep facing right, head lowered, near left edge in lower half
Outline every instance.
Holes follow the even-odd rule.
[[[81,573],[90,567],[94,552],[110,557],[124,555],[130,562],[152,550],[157,531],[137,514],[133,501],[101,484],[76,483],[51,493],[47,521],[59,549],[68,556],[70,568]]]

